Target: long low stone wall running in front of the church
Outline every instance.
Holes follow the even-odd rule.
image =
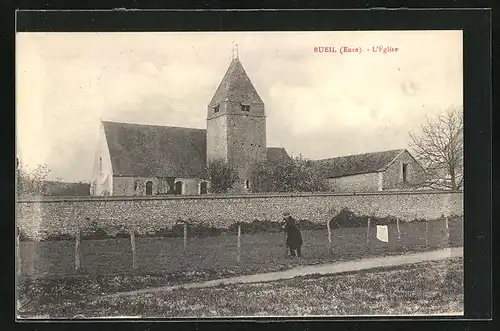
[[[284,211],[297,219],[325,222],[347,208],[357,215],[404,221],[463,215],[463,193],[377,192],[363,194],[255,194],[161,197],[85,197],[18,201],[19,229],[31,238],[69,234],[98,222],[102,228],[134,228],[139,234],[171,228],[179,220],[216,228],[237,222],[280,221]]]

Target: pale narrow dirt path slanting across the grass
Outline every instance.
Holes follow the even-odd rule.
[[[336,263],[327,263],[321,265],[300,266],[284,271],[238,276],[238,277],[231,277],[224,279],[215,279],[199,283],[147,288],[142,290],[111,294],[108,297],[127,296],[127,295],[136,295],[144,293],[156,293],[156,292],[172,291],[175,289],[213,287],[218,285],[271,282],[281,279],[291,279],[299,276],[308,276],[314,274],[320,274],[320,275],[336,274],[342,272],[352,272],[352,271],[367,270],[380,267],[400,266],[405,264],[420,263],[426,261],[445,260],[448,258],[462,257],[462,256],[463,256],[463,247],[446,248],[446,249],[440,249],[422,253],[365,258],[349,262],[336,262]]]

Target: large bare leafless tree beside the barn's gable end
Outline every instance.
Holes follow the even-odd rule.
[[[463,186],[463,110],[448,108],[410,133],[410,149],[427,172],[426,186],[458,190]]]

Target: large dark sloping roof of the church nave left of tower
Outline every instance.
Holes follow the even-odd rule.
[[[206,178],[206,130],[102,124],[115,176]]]

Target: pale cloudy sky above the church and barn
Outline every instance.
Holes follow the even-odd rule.
[[[101,120],[206,128],[233,43],[268,146],[292,155],[407,148],[426,117],[463,105],[461,31],[18,33],[18,157],[90,181]],[[379,45],[398,51],[367,51]]]

